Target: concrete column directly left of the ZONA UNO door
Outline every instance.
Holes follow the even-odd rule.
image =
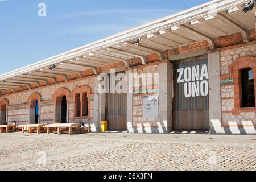
[[[172,63],[159,64],[159,122],[163,133],[172,130]],[[161,132],[161,131],[160,131]]]

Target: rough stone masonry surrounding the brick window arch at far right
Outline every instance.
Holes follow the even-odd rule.
[[[220,75],[229,75],[229,66],[237,59],[245,56],[256,56],[255,44],[233,46],[229,49],[223,49],[220,52]],[[224,127],[224,132],[255,133],[255,110],[241,111],[239,114],[234,114],[234,100],[237,97],[239,96],[234,94],[234,81],[230,80],[229,82],[223,82],[223,80],[221,80],[221,124],[222,127]],[[241,131],[241,127],[243,131]],[[254,131],[249,130],[249,127]],[[238,128],[240,130],[238,130]]]

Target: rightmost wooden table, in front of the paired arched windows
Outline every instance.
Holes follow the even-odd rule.
[[[58,135],[61,133],[72,134],[80,134],[80,126],[81,123],[63,123],[63,124],[50,124],[46,125],[47,134],[50,134],[51,131],[57,133]],[[57,130],[56,130],[57,129]]]

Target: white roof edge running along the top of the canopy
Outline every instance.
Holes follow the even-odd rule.
[[[31,72],[36,69],[40,69],[43,67],[48,67],[49,65],[52,65],[52,64],[60,63],[61,61],[64,61],[64,60],[72,59],[73,57],[76,57],[76,56],[84,55],[85,53],[88,53],[90,51],[95,51],[100,48],[105,48],[121,42],[126,42],[128,40],[133,40],[134,38],[145,36],[147,34],[151,34],[152,32],[160,31],[165,28],[170,28],[172,26],[177,26],[179,24],[187,23],[191,20],[198,19],[209,14],[214,14],[219,11],[229,9],[233,6],[241,5],[242,3],[245,3],[247,1],[248,0],[210,1],[208,3],[204,3],[203,5],[192,7],[191,9],[181,11],[180,13],[166,16],[165,18],[161,18],[153,22],[143,24],[142,26],[139,26],[139,27],[131,28],[130,30],[123,31],[113,36],[109,36],[108,38],[104,38],[96,42],[86,44],[85,46],[72,49],[71,51],[67,51],[59,55],[49,57],[48,59],[39,61],[37,63],[27,65],[26,67],[19,68],[14,71],[5,73],[3,75],[0,75],[0,80],[5,80],[7,78],[22,75],[24,73]]]

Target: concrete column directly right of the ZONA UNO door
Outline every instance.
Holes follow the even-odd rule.
[[[210,133],[221,133],[220,52],[208,54]]]

